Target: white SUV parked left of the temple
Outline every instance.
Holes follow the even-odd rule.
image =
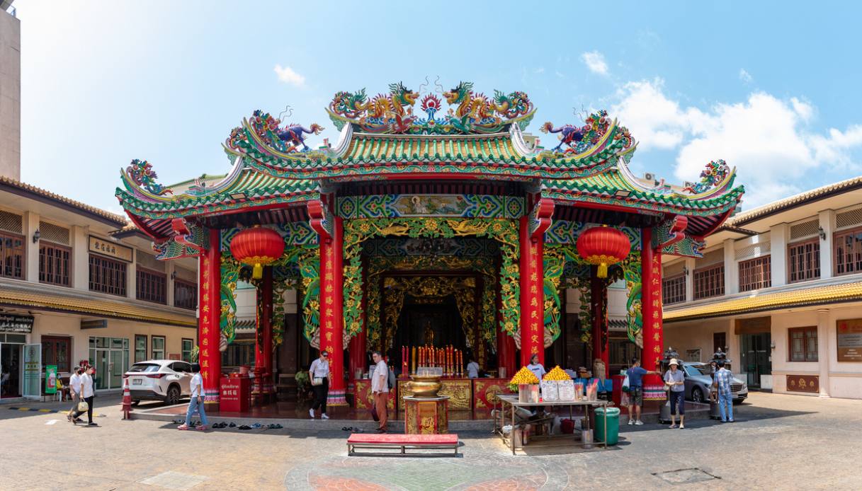
[[[132,403],[142,400],[178,404],[191,395],[191,364],[177,360],[148,360],[134,365],[123,375],[128,378]]]

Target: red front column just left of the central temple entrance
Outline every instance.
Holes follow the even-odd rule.
[[[321,349],[329,353],[329,371],[332,383],[329,386],[327,404],[344,406],[347,385],[344,381],[344,313],[342,286],[343,272],[343,228],[340,217],[333,217],[332,239],[321,238]]]

